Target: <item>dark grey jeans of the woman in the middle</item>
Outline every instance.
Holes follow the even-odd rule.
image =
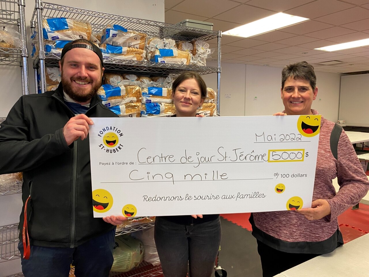
[[[220,246],[220,218],[182,225],[157,217],[155,244],[164,277],[210,277]]]

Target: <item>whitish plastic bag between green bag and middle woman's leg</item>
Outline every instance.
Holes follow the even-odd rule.
[[[159,255],[158,251],[156,250],[154,240],[154,228],[138,230],[133,232],[131,236],[144,244],[144,261],[151,263],[153,266],[160,264]]]

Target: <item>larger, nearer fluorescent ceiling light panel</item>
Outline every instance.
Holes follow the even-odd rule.
[[[307,21],[309,18],[292,16],[285,13],[277,13],[254,22],[239,26],[229,31],[223,32],[223,35],[232,35],[234,37],[252,37],[270,31],[274,31],[283,27],[294,25]]]

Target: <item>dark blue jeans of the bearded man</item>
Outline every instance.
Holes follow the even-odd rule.
[[[19,242],[22,271],[25,277],[68,277],[70,264],[78,277],[107,277],[113,264],[115,229],[75,248],[31,245],[31,255],[23,259],[23,243]]]

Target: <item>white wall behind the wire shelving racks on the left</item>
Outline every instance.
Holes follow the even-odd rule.
[[[26,36],[28,53],[30,55],[30,21],[35,2],[32,0],[26,0],[25,2]],[[127,0],[50,0],[48,2],[164,22],[164,0],[135,0],[134,4],[132,4],[132,1]],[[28,78],[30,93],[35,93],[34,70],[31,58],[28,59]],[[6,117],[13,104],[22,96],[20,67],[0,65],[0,84],[3,88],[0,90],[0,117]]]

